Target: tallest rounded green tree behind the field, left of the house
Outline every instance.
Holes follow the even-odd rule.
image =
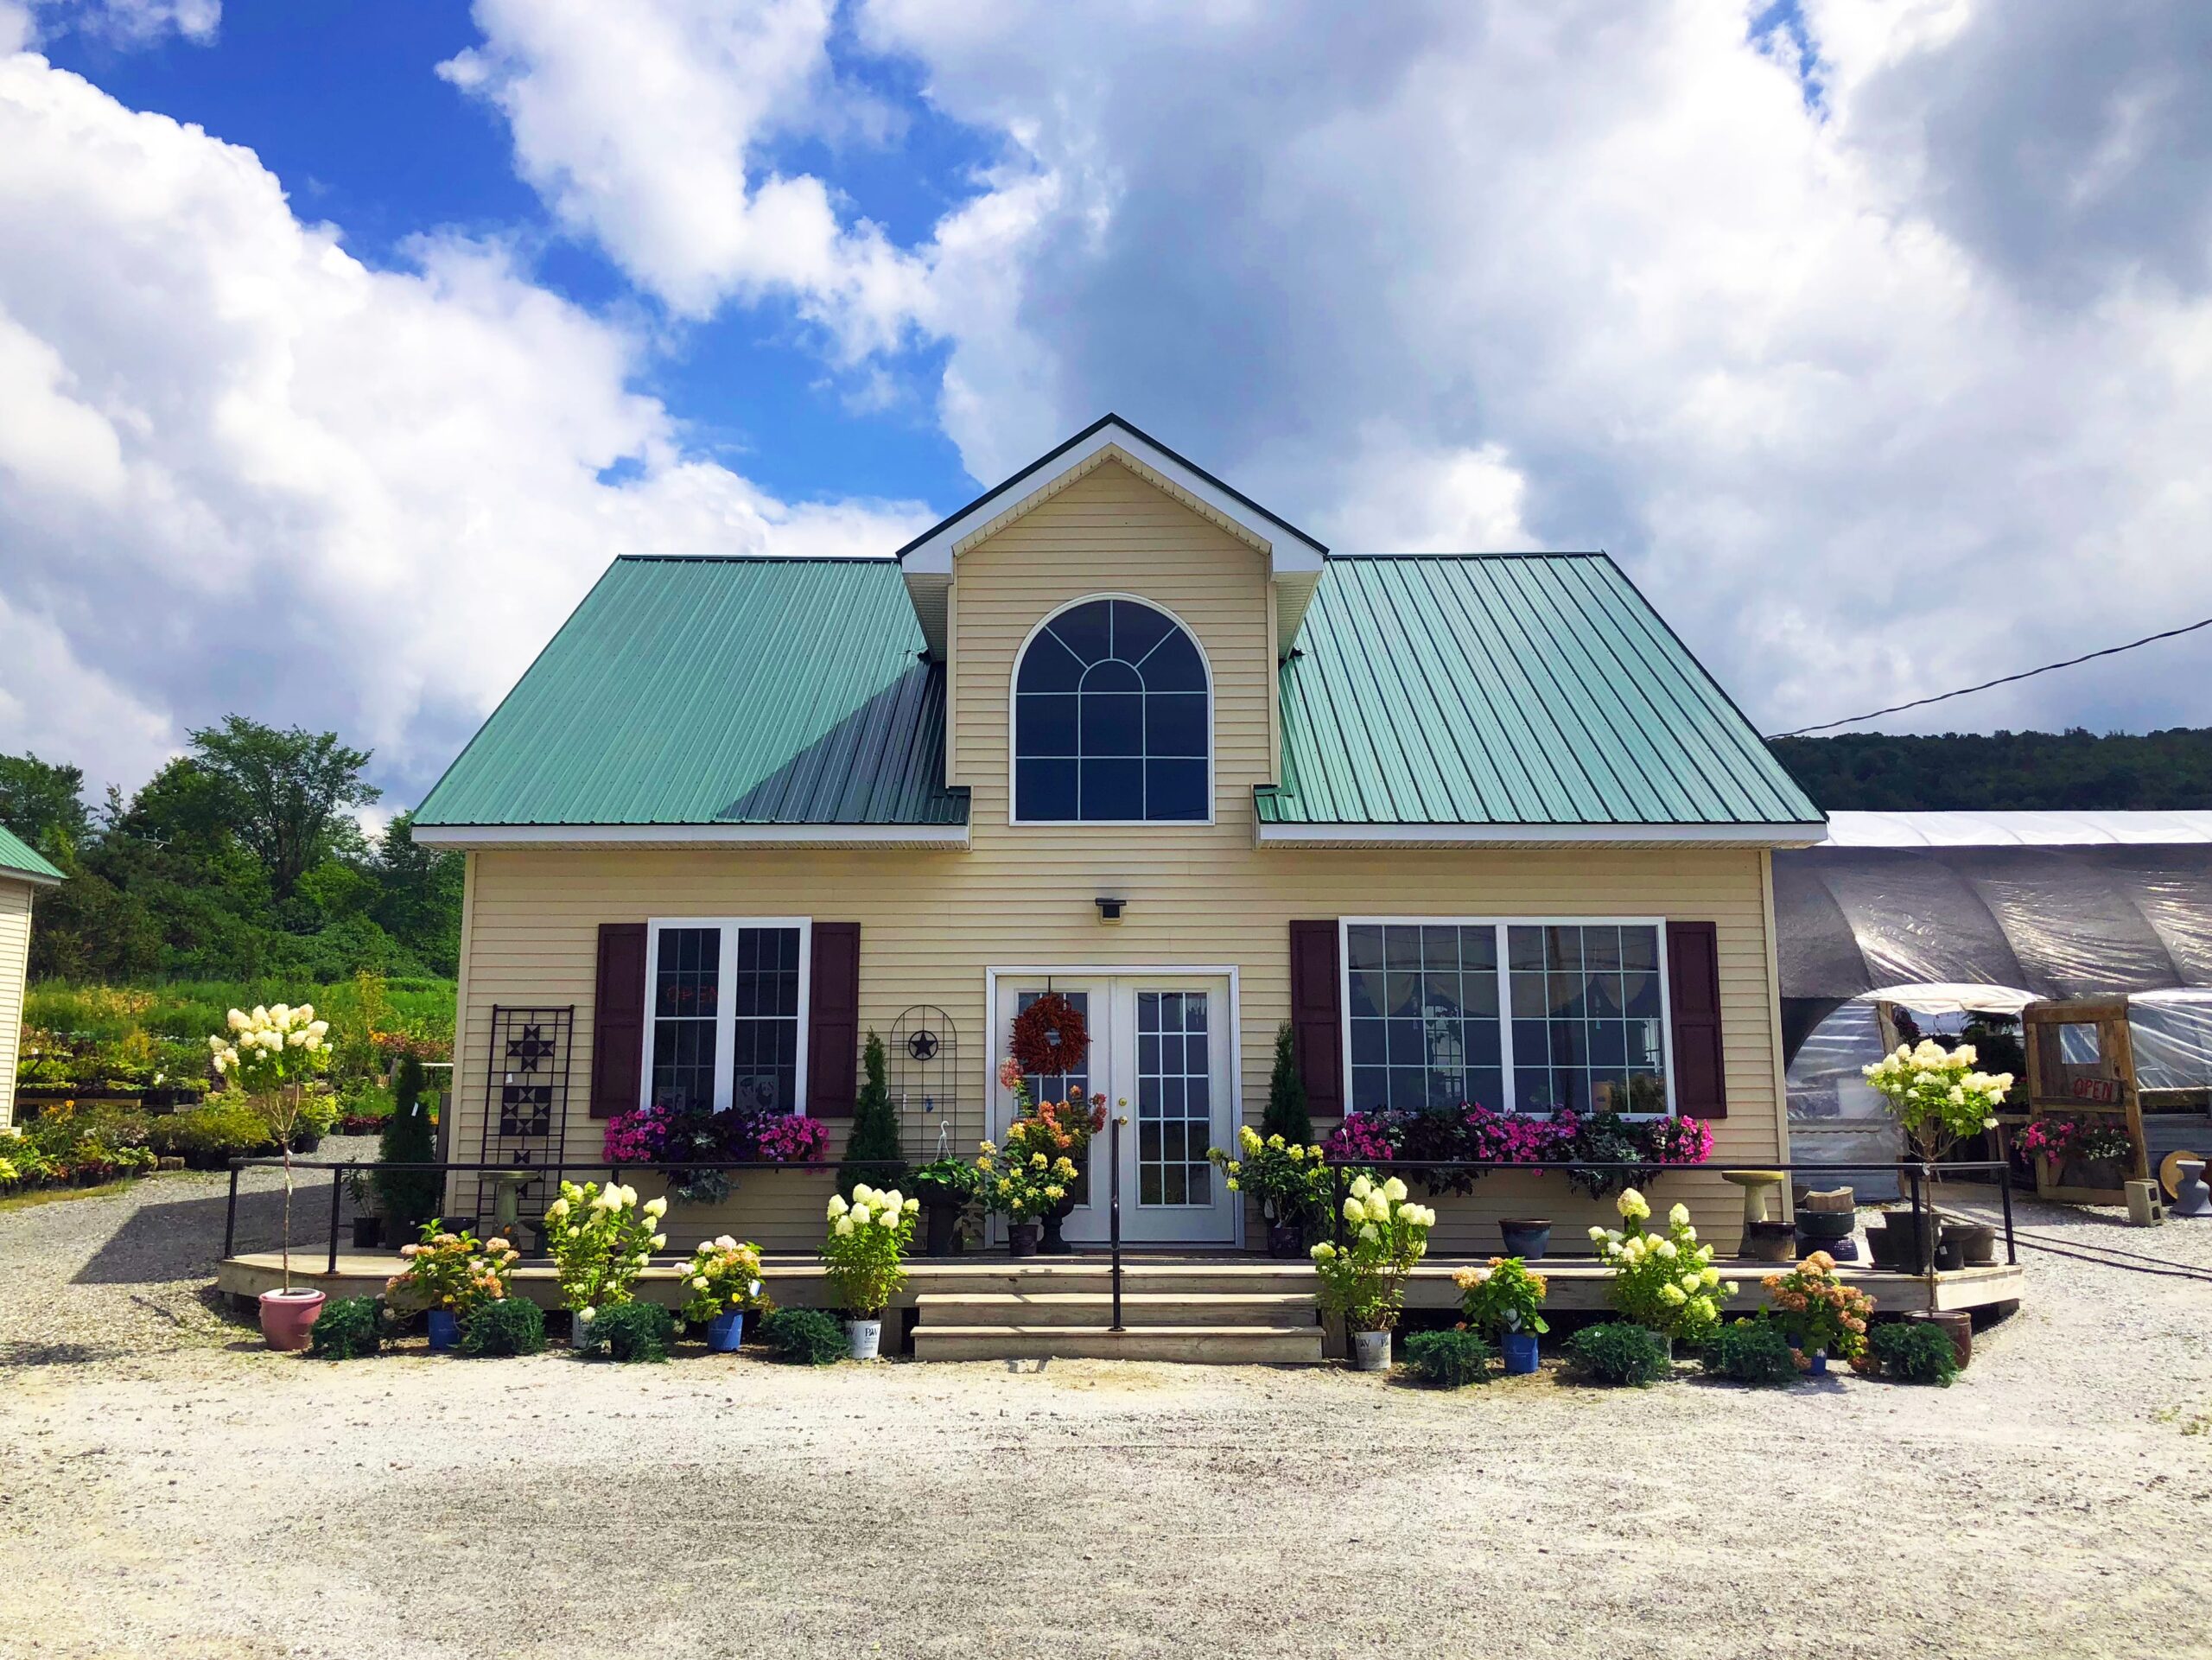
[[[363,781],[367,750],[347,748],[336,733],[307,733],[226,715],[221,726],[192,733],[195,759],[223,781],[237,812],[234,828],[268,868],[270,894],[283,905],[299,879],[361,843],[347,808],[376,801],[383,790]]]

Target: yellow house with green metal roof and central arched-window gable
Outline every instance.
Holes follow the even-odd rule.
[[[883,560],[624,558],[416,815],[467,852],[449,1155],[602,1160],[639,1109],[827,1120],[867,1031],[905,1153],[1033,1078],[1126,1100],[1075,1242],[1243,1246],[1208,1166],[1285,1023],[1347,1109],[1699,1116],[1787,1155],[1770,850],[1818,810],[1601,553],[1343,558],[1108,416]],[[489,1184],[449,1206],[493,1215]],[[672,1233],[821,1237],[827,1171]],[[544,1204],[529,1186],[524,1213]],[[1440,1253],[1597,1206],[1498,1173]],[[1256,1244],[1256,1239],[1252,1239]]]

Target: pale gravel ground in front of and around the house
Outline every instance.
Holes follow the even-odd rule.
[[[2212,1266],[2212,1224],[2024,1224]],[[2212,1653],[2205,1282],[2031,1255],[1951,1390],[1444,1397],[330,1366],[221,1319],[219,1242],[219,1177],[0,1215],[0,1653]]]

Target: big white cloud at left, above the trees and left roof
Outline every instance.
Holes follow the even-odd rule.
[[[369,270],[250,151],[27,53],[0,226],[0,750],[128,786],[239,710],[374,746],[411,799],[615,553],[880,553],[929,518],[686,456],[637,341],[500,248]]]

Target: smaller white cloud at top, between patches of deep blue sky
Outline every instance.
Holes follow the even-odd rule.
[[[761,151],[854,102],[830,89],[830,0],[476,0],[484,44],[440,64],[513,133],[564,224],[686,317],[790,299],[847,356],[896,347],[925,266]]]

